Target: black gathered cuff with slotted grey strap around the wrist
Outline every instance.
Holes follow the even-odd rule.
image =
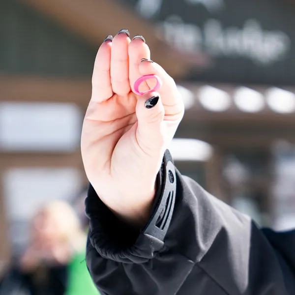
[[[85,201],[89,218],[87,251],[95,248],[102,258],[121,263],[144,263],[160,252],[176,198],[176,171],[168,150],[157,176],[157,187],[150,220],[144,228],[136,230],[118,220],[89,185]]]

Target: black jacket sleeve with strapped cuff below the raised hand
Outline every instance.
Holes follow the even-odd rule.
[[[87,264],[105,295],[294,295],[295,232],[249,217],[175,169],[166,151],[141,230],[120,222],[89,187]]]

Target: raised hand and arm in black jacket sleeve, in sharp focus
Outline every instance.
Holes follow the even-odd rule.
[[[171,60],[173,62],[173,60]],[[136,95],[157,75],[163,85]],[[182,176],[167,148],[183,117],[144,37],[100,46],[81,151],[90,182],[87,264],[104,295],[294,295],[295,231],[251,219]]]

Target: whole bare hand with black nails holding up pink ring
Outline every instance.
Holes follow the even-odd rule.
[[[150,59],[148,45],[142,38],[131,41],[128,34],[120,31],[98,50],[81,150],[99,198],[118,217],[141,226],[148,221],[156,175],[184,107],[174,80],[159,64],[142,60]],[[135,81],[148,74],[161,78],[159,92],[134,94]],[[152,87],[147,81],[140,90]],[[159,99],[147,108],[146,101],[155,96]]]

